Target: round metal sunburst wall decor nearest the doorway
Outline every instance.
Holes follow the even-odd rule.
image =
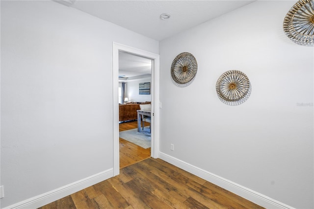
[[[171,64],[171,78],[175,85],[185,87],[193,82],[197,72],[195,57],[189,52],[176,56]]]

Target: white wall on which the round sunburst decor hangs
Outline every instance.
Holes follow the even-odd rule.
[[[160,151],[310,209],[314,50],[283,32],[294,3],[256,1],[160,42]],[[184,88],[170,76],[181,52],[192,53],[198,63],[195,80]],[[216,81],[228,70],[240,70],[251,81],[252,94],[243,104],[226,105],[217,97]]]

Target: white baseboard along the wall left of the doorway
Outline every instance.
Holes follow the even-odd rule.
[[[16,203],[14,205],[8,206],[5,209],[36,209],[66,197],[70,194],[78,192],[86,187],[100,183],[113,177],[113,169],[108,169],[101,173],[95,174],[93,176],[87,177],[85,179],[79,180],[75,183],[70,183],[68,185],[62,186],[60,188],[54,189],[50,192],[29,198],[25,201]]]

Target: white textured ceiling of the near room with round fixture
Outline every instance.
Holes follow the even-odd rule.
[[[197,26],[252,0],[64,0],[71,7],[128,28],[155,40],[162,40]],[[168,20],[160,15],[168,13]]]

